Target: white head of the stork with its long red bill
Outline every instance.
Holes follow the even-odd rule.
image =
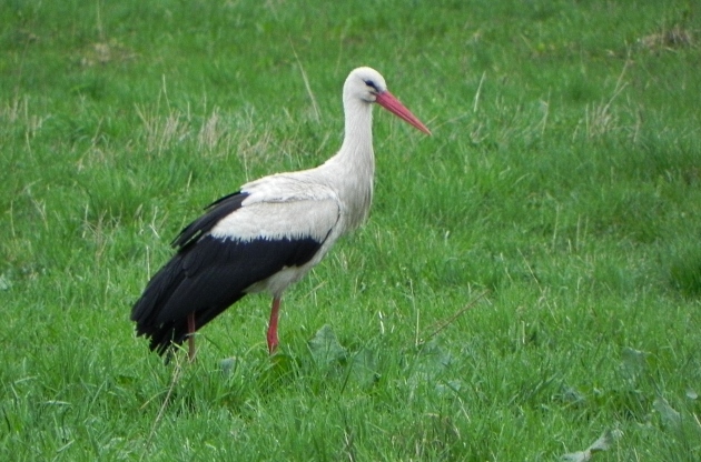
[[[376,102],[399,119],[411,123],[426,134],[431,131],[417,118],[404,107],[389,91],[385,78],[372,68],[354,69],[343,87],[344,99]]]

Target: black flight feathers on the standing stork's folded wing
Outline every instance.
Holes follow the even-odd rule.
[[[197,329],[203,328],[240,300],[247,288],[284,267],[308,262],[322,247],[312,238],[238,241],[205,235],[240,209],[246,197],[221,198],[186,227],[174,241],[178,252],[151,278],[134,305],[131,320],[139,335],[150,338],[151,350],[162,354],[172,343],[182,343],[190,313]]]

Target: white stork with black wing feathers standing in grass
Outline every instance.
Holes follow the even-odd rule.
[[[283,292],[299,281],[344,233],[366,218],[373,198],[372,103],[424,133],[431,131],[371,68],[357,68],[343,87],[345,135],[340,150],[309,170],[244,184],[209,207],[172,241],[177,253],[148,282],[131,311],[139,335],[159,354],[189,339],[215,317],[255,292],[273,295],[267,343],[275,352]]]

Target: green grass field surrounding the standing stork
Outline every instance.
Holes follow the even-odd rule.
[[[701,459],[697,1],[0,4],[0,459]],[[250,297],[164,365],[168,243],[330,157],[363,64],[434,135],[375,109],[279,354]]]

